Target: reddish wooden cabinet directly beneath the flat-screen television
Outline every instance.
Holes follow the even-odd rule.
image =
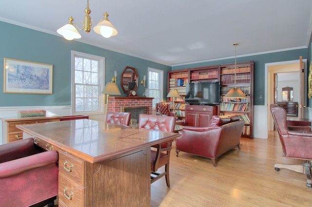
[[[218,113],[217,106],[185,106],[185,125],[193,127],[206,127],[213,115]]]

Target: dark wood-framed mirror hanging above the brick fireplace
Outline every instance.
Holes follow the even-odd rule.
[[[125,67],[121,74],[121,88],[125,94],[137,90],[138,75],[137,70],[132,67]]]

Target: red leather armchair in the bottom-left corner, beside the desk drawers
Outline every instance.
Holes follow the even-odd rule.
[[[57,151],[43,151],[34,139],[0,145],[0,206],[54,206],[58,195]]]

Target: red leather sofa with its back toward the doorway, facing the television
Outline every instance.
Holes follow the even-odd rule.
[[[216,167],[216,159],[225,152],[237,147],[240,150],[240,137],[245,121],[239,116],[214,115],[208,127],[184,126],[176,138],[176,156],[179,151],[196,154],[212,159]]]

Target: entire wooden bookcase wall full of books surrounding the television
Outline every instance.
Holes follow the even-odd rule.
[[[181,97],[178,101],[175,100],[175,109],[181,110],[181,105],[176,103],[183,103],[185,106],[185,84],[188,82],[221,82],[221,96],[220,105],[217,106],[218,114],[239,114],[246,124],[242,137],[253,138],[253,114],[254,114],[254,61],[239,62],[235,64],[222,64],[212,65],[197,68],[181,69],[168,72],[168,91],[172,88],[176,88]],[[236,74],[236,75],[235,75]],[[234,78],[236,76],[236,83]],[[181,84],[183,80],[183,85]],[[247,95],[247,99],[226,99],[223,98],[233,87],[240,88],[244,94]],[[172,98],[168,98],[167,101],[173,101]],[[179,109],[180,108],[180,109]],[[173,110],[173,108],[172,108]],[[188,116],[188,110],[179,112],[185,114],[179,116],[179,119],[184,119]]]

